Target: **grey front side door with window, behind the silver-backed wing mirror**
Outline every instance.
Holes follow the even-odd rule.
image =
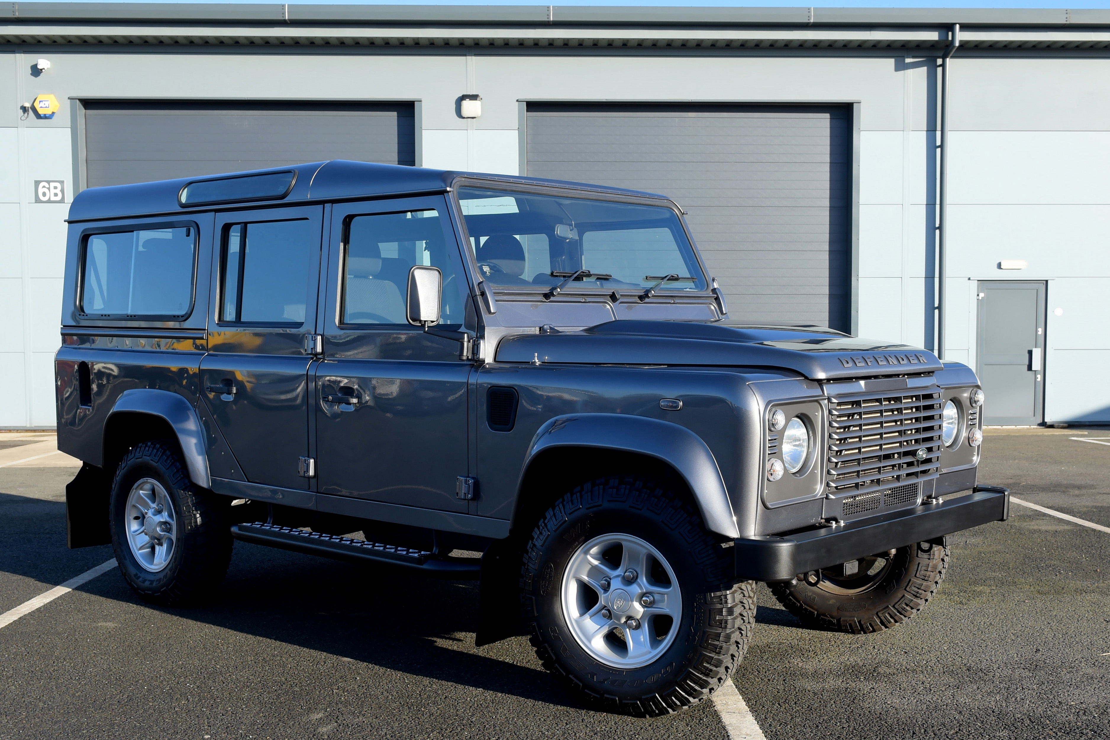
[[[315,369],[319,491],[466,513],[455,479],[467,475],[473,364],[458,342],[408,324],[414,265],[443,272],[437,328],[461,328],[473,308],[444,196],[333,206]]]

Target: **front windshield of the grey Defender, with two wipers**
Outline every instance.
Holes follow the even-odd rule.
[[[476,187],[461,187],[458,200],[482,278],[495,287],[707,287],[668,207]]]

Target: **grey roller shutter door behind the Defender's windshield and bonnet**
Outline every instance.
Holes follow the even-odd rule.
[[[528,104],[527,173],[673,197],[729,323],[850,326],[842,105]]]

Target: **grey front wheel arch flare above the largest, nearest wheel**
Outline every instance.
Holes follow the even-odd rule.
[[[568,454],[575,456],[573,464]],[[705,442],[677,424],[628,414],[569,414],[539,427],[521,469],[513,529],[538,519],[568,484],[607,473],[633,473],[627,467],[632,465],[674,476],[697,506],[706,529],[740,536],[717,460]]]

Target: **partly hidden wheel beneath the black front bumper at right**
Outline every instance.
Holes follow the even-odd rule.
[[[844,632],[879,632],[914,617],[940,587],[951,558],[944,538],[798,574],[770,590],[804,622]]]

